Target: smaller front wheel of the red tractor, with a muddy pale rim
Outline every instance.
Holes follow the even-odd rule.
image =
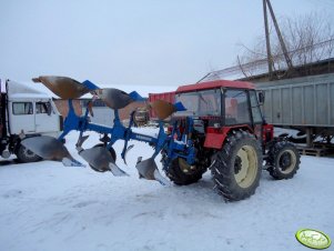
[[[269,151],[267,171],[276,180],[293,178],[300,163],[298,150],[289,141],[276,142]]]

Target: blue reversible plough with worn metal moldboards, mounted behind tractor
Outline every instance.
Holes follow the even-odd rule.
[[[143,100],[143,98],[135,91],[126,93],[119,89],[113,88],[99,88],[89,80],[79,82],[67,77],[39,77],[33,79],[34,82],[43,83],[48,89],[54,92],[62,99],[69,101],[69,112],[64,120],[63,132],[55,139],[52,137],[41,135],[27,138],[22,141],[22,144],[40,155],[45,160],[62,161],[64,165],[71,167],[84,167],[80,161],[75,160],[65,145],[63,139],[67,134],[72,131],[79,131],[78,142],[75,144],[79,155],[89,163],[89,165],[99,172],[111,171],[114,175],[128,175],[128,173],[121,170],[115,163],[115,152],[112,145],[118,140],[123,140],[124,145],[121,152],[121,157],[126,164],[126,153],[133,148],[133,144],[128,145],[130,140],[143,141],[150,143],[154,148],[154,152],[151,158],[146,160],[138,160],[135,168],[138,169],[140,178],[148,180],[156,180],[162,184],[166,183],[166,180],[161,175],[154,161],[155,157],[162,150],[166,153],[168,158],[164,161],[169,162],[178,157],[184,158],[189,164],[194,162],[194,148],[192,141],[188,138],[188,133],[192,130],[192,119],[189,120],[189,128],[183,134],[178,131],[178,127],[174,127],[171,134],[164,132],[164,119],[171,116],[175,111],[185,110],[182,103],[169,103],[163,100],[156,100],[150,103],[150,108],[154,109],[159,120],[159,134],[158,137],[145,135],[134,132],[131,128],[133,127],[133,116],[130,116],[130,123],[124,127],[119,117],[119,109],[122,109],[134,101]],[[94,97],[99,97],[109,108],[114,112],[113,127],[105,127],[90,122],[89,114],[92,114],[92,100],[87,104],[85,112],[79,117],[75,114],[73,109],[72,100],[82,97],[85,93],[91,93]],[[112,112],[112,111],[111,111]],[[84,135],[87,131],[94,131],[103,134],[102,143],[84,149],[83,143],[88,139]],[[179,134],[179,140],[174,139],[174,134]],[[180,135],[181,134],[181,135]],[[180,140],[181,139],[181,140]],[[182,152],[182,153],[181,153]]]

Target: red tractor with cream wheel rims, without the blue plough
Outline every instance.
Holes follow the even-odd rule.
[[[174,183],[194,183],[211,169],[215,190],[236,201],[255,192],[262,169],[277,180],[296,173],[300,154],[293,143],[274,138],[273,126],[265,122],[260,109],[264,97],[252,83],[219,80],[182,86],[175,101],[186,111],[174,113],[171,122],[183,133],[189,127],[186,118],[192,118],[189,139],[195,161],[189,164],[182,157],[164,161],[169,153],[162,151],[164,170]]]

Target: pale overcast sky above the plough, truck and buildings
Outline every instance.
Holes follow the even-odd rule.
[[[277,17],[334,12],[334,0],[272,4]],[[233,66],[237,44],[263,32],[262,0],[0,0],[0,78],[58,74],[154,92]]]

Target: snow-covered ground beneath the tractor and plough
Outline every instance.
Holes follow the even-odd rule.
[[[67,143],[73,155],[75,137]],[[95,143],[92,134],[88,145]],[[52,161],[0,162],[0,250],[281,251],[307,250],[295,240],[301,228],[334,238],[334,159],[302,157],[292,180],[264,171],[253,197],[226,203],[210,173],[188,187],[139,180],[136,158],[152,152],[135,142],[129,167],[117,161],[130,173],[122,178]]]

